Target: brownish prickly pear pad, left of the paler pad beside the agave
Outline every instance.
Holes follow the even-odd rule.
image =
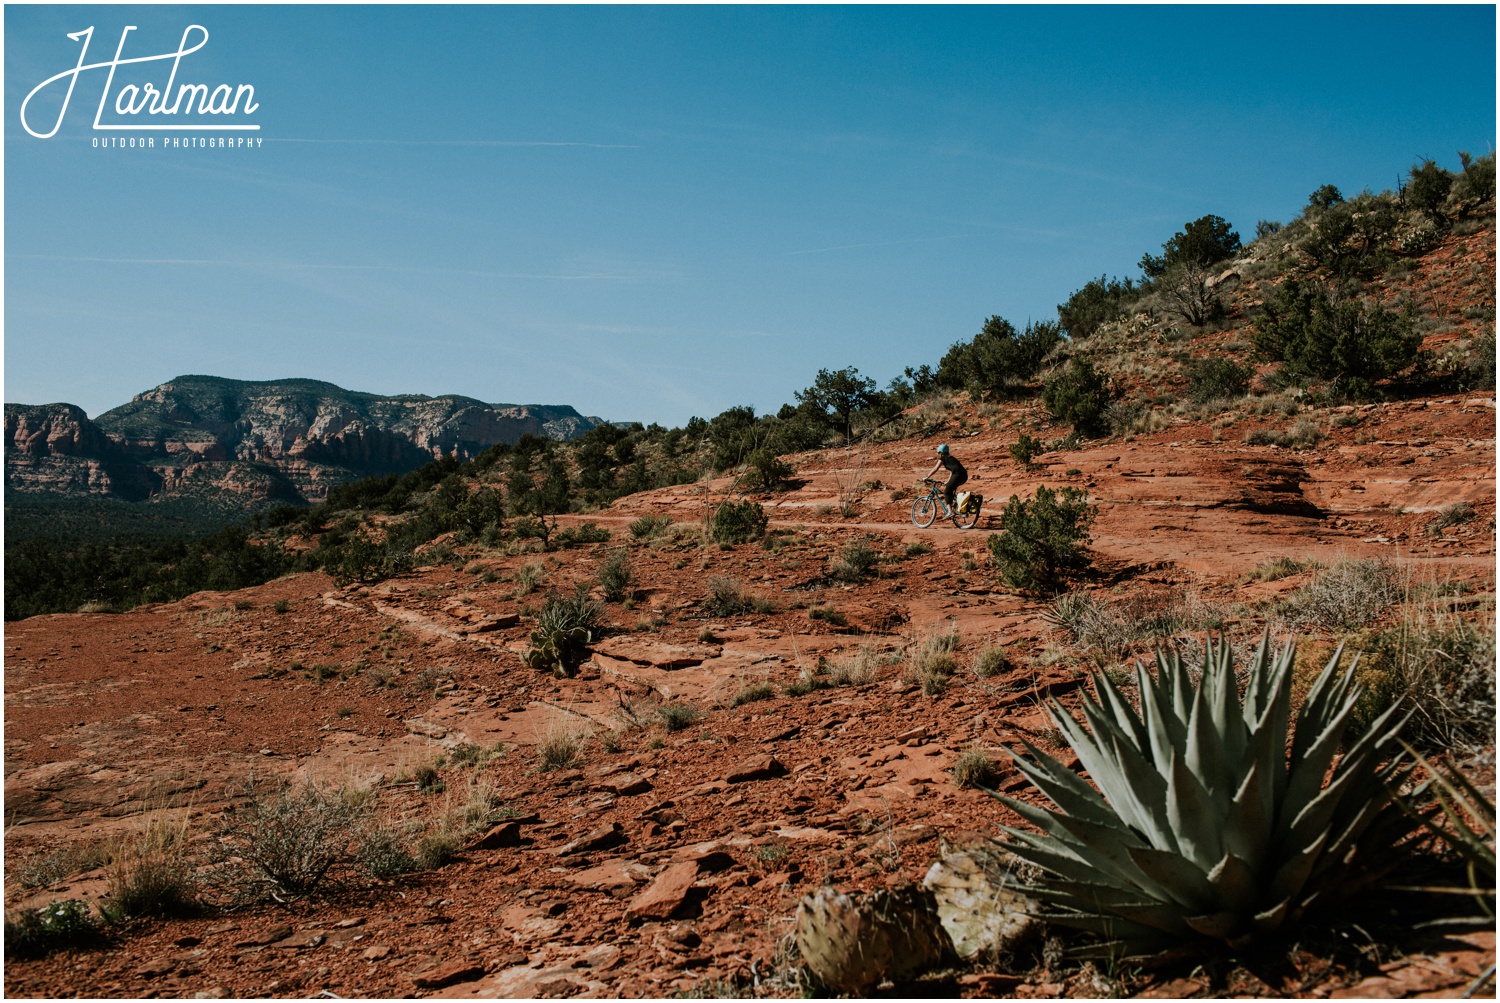
[[[850,895],[824,886],[796,910],[796,949],[830,990],[864,993],[933,967],[950,943],[927,889]]]

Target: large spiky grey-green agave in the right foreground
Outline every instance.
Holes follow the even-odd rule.
[[[1008,829],[1010,849],[1042,868],[1026,888],[1052,922],[1104,936],[1108,954],[1234,949],[1296,924],[1324,900],[1378,877],[1414,828],[1390,789],[1410,774],[1396,706],[1346,741],[1360,688],[1334,652],[1296,715],[1294,648],[1256,651],[1244,702],[1226,642],[1206,645],[1194,685],[1180,654],[1137,663],[1137,712],[1102,675],[1084,697],[1088,730],[1050,714],[1098,786],[1038,748],[1022,774],[1056,811],[999,796],[1046,835]],[[1338,757],[1338,750],[1344,754]],[[1335,763],[1336,759],[1336,763]]]

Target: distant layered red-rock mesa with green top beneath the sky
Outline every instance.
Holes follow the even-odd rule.
[[[6,495],[296,504],[360,477],[468,459],[528,433],[570,439],[597,424],[568,406],[178,376],[94,420],[70,403],[8,403]]]

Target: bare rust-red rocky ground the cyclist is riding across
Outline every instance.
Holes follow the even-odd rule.
[[[534,820],[520,826],[520,846],[468,849],[454,864],[393,883],[291,907],[142,922],[99,951],[10,961],[6,993],[669,996],[760,978],[764,993],[784,994],[784,984],[765,981],[778,970],[778,945],[800,897],[819,883],[920,880],[940,844],[1018,823],[987,795],[957,787],[948,768],[972,742],[992,750],[1017,738],[1048,744],[1040,697],[1084,684],[1080,660],[1066,657],[1060,631],[1044,619],[1048,604],[998,586],[984,568],[984,540],[1004,498],[1038,484],[1086,489],[1100,516],[1095,568],[1082,585],[1126,601],[1222,604],[1236,636],[1258,631],[1262,621],[1233,604],[1306,583],[1308,573],[1246,580],[1280,555],[1386,558],[1416,580],[1461,582],[1472,607],[1492,609],[1491,397],[1304,412],[1330,432],[1304,451],[1239,441],[1248,429],[1284,420],[1251,418],[1233,442],[1215,441],[1202,423],[1180,423],[1047,454],[1023,471],[1006,447],[1029,411],[1012,408],[990,418],[970,414],[966,438],[950,424],[928,438],[804,454],[800,486],[762,498],[772,529],[786,531],[774,549],[705,549],[688,537],[630,544],[640,583],[634,609],[608,607],[615,633],[574,679],[526,669],[519,652],[528,624],[502,625],[540,598],[516,598],[506,576],[540,555],[495,553],[476,558],[470,571],[429,567],[342,589],[322,574],[298,574],[122,615],[9,624],[9,907],[98,898],[102,871],[36,891],[21,886],[20,864],[134,831],[142,811],[190,808],[208,819],[252,774],[370,784],[381,811],[412,820],[462,805],[466,784],[478,778]],[[1338,414],[1360,421],[1332,427]],[[930,466],[939,435],[969,463],[969,487],[987,498],[974,531],[916,529],[909,498],[892,498]],[[849,519],[837,513],[840,480],[872,484]],[[1434,511],[1460,499],[1474,507],[1474,519],[1424,532]],[[690,486],[574,517],[609,528],[614,541],[546,555],[542,592],[592,585],[598,561],[630,540],[624,525],[640,514],[681,525],[702,511],[704,487]],[[860,535],[892,559],[860,585],[826,579],[830,558]],[[904,556],[904,546],[918,541],[932,552]],[[776,612],[710,616],[710,576],[735,579]],[[826,606],[848,624],[808,616]],[[711,640],[700,639],[705,628]],[[950,631],[960,640],[962,666],[1002,645],[1016,669],[988,679],[960,670],[939,696],[903,682],[898,666],[862,687],[801,697],[780,691],[819,657],[838,660],[861,645],[898,652]],[[326,681],[312,678],[315,666],[332,667]],[[762,681],[776,685],[776,697],[729,706],[736,691]],[[604,733],[621,727],[621,708],[648,717],[663,702],[706,714],[672,733],[660,724],[621,729],[618,751],[594,741],[578,769],[537,772],[536,748],[549,733]],[[507,751],[486,765],[446,768],[446,793],[422,793],[402,780],[462,742]],[[765,756],[786,774],[729,783],[738,766]],[[1005,769],[1002,790],[1022,790]],[[624,786],[622,774],[640,783]],[[558,853],[610,825],[624,837],[618,846]],[[728,858],[714,858],[716,850]],[[630,918],[632,898],[686,859],[705,862],[674,918]],[[279,925],[290,927],[285,936],[252,943]],[[1240,969],[1218,982],[1173,973],[1098,982],[1092,969],[1022,978],[978,967],[948,973],[928,991],[1446,996],[1492,961],[1492,933],[1437,943],[1413,936],[1383,945],[1362,966],[1310,955],[1276,975]],[[420,988],[444,978],[447,988]]]

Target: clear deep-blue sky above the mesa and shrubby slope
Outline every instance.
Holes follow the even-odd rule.
[[[177,82],[252,84],[261,147],[94,148],[132,135],[92,129],[104,70],[27,135],[66,34],[106,60],[126,24],[126,57],[204,25]],[[774,409],[819,367],[884,384],[992,313],[1052,318],[1204,213],[1250,237],[1496,133],[1492,6],[9,6],[4,28],[4,399],[90,414],[180,373]]]

